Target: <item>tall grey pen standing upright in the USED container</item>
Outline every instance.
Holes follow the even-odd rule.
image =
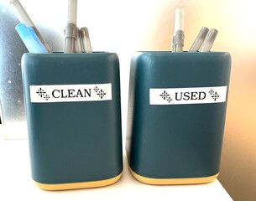
[[[182,52],[184,46],[184,10],[175,10],[175,34],[172,38],[172,51]]]

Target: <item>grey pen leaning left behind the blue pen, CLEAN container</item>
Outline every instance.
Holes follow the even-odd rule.
[[[37,34],[40,42],[44,45],[45,49],[47,49],[48,53],[51,53],[52,51],[50,49],[50,46],[46,43],[44,38],[41,36],[41,34],[39,33],[39,30],[34,26],[34,23],[29,18],[28,13],[26,13],[21,3],[18,0],[11,0],[9,3],[13,7],[20,23],[24,23],[27,25],[27,27],[33,28],[34,32]]]

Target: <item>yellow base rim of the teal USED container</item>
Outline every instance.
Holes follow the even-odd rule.
[[[136,178],[139,182],[154,184],[154,185],[170,185],[170,184],[198,184],[198,183],[210,183],[217,178],[218,174],[205,177],[205,178],[146,178],[137,173],[134,173],[130,168],[130,172],[133,174],[133,177]]]

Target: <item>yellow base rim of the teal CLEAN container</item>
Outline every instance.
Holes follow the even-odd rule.
[[[80,189],[80,188],[97,188],[111,185],[112,183],[116,183],[119,178],[121,178],[122,173],[120,173],[117,177],[109,178],[100,181],[93,182],[84,182],[84,183],[58,183],[58,184],[48,184],[48,183],[37,183],[34,182],[39,188],[50,191],[57,190],[71,190],[71,189]]]

